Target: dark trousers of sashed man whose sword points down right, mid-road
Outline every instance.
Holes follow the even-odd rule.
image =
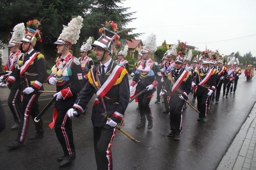
[[[182,131],[182,118],[181,114],[184,107],[185,101],[178,98],[179,102],[169,101],[170,107],[170,129],[175,132],[175,134],[181,134]]]

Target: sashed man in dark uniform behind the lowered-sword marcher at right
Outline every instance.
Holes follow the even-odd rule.
[[[216,86],[216,81],[214,77],[214,70],[209,68],[209,59],[205,58],[202,61],[203,68],[197,70],[197,76],[195,79],[195,87],[197,95],[197,108],[199,113],[198,121],[207,122],[207,112],[208,112],[208,100],[209,96],[213,93]]]

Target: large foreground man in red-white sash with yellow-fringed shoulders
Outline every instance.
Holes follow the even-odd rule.
[[[110,148],[117,130],[115,126],[123,120],[129,103],[129,80],[127,70],[112,60],[111,45],[117,44],[116,33],[106,28],[101,28],[100,31],[101,37],[92,45],[100,64],[90,69],[88,83],[80,91],[73,108],[69,109],[67,114],[69,117],[79,117],[96,93],[91,121],[97,169],[112,170],[113,158]],[[111,120],[107,121],[102,113],[106,113]]]

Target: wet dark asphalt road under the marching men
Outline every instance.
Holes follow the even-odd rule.
[[[188,106],[184,109],[183,131],[180,140],[168,137],[170,132],[169,115],[162,113],[163,104],[155,104],[156,93],[151,101],[154,126],[151,130],[138,130],[140,123],[137,103],[129,104],[125,113],[125,126],[122,127],[132,137],[140,140],[134,143],[120,131],[113,141],[113,169],[216,169],[229,144],[250,113],[256,98],[256,79],[246,82],[240,76],[236,94],[228,98],[220,97],[208,113],[206,123],[198,122],[198,113]],[[194,107],[197,102],[189,100]],[[50,99],[40,100],[40,110]],[[93,127],[90,121],[94,99],[88,105],[86,114],[73,118],[74,143],[76,158],[61,169],[97,169],[93,148]],[[162,101],[162,98],[161,98]],[[18,149],[9,149],[6,145],[17,137],[17,130],[10,130],[13,116],[7,104],[6,129],[0,134],[0,169],[58,169],[57,158],[63,154],[53,129],[48,127],[52,121],[53,106],[42,117],[44,137],[36,140],[25,140],[25,145]],[[35,133],[33,120],[30,117],[27,138]],[[147,124],[146,124],[147,125]]]

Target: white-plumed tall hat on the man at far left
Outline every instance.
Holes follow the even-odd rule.
[[[13,46],[20,46],[22,44],[21,40],[25,35],[25,26],[24,23],[17,24],[13,28],[13,32],[11,32],[12,38],[9,41],[9,44],[7,47],[13,47]]]

